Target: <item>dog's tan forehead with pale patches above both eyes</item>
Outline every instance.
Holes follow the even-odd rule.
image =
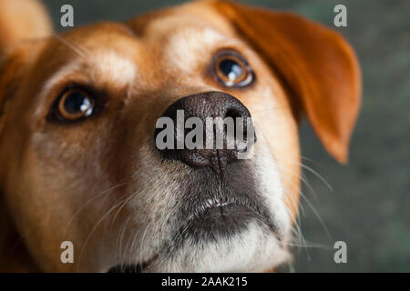
[[[120,86],[136,79],[139,85],[146,84],[146,76],[157,74],[159,66],[170,68],[162,70],[162,74],[174,74],[173,68],[192,72],[215,47],[234,44],[232,35],[231,25],[224,17],[208,5],[197,3],[141,15],[125,25],[100,23],[80,27],[54,39],[56,55],[73,57],[56,57],[61,64],[47,86],[64,80],[73,71],[92,77],[97,83]],[[155,85],[153,78],[148,83]]]

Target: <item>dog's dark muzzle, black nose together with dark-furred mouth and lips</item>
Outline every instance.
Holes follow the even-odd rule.
[[[171,193],[176,197],[173,215],[167,218],[171,230],[159,242],[154,256],[138,265],[117,266],[110,271],[155,270],[159,258],[164,261],[190,249],[239,240],[251,231],[250,227],[277,236],[278,226],[265,196],[266,189],[260,185],[256,162],[241,158],[256,141],[249,110],[232,95],[207,92],[178,99],[160,118],[174,127],[184,125],[181,132],[176,129],[168,135],[168,147],[157,146],[160,158],[166,162],[161,165],[171,172],[178,171],[172,181],[178,185]],[[196,118],[196,127],[186,126],[190,118]],[[231,118],[234,133],[230,132],[229,124],[215,122],[218,118]],[[158,145],[164,127],[156,127],[154,139]],[[212,134],[211,140],[206,137],[198,147],[187,146],[185,136],[191,130],[201,135]]]

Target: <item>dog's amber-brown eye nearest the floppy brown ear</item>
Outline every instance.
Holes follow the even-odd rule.
[[[224,51],[216,56],[214,71],[218,81],[229,87],[251,85],[254,74],[251,66],[236,52]]]

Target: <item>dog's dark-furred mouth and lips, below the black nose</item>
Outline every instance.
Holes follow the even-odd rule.
[[[235,240],[251,225],[281,240],[267,202],[251,179],[251,169],[240,169],[241,175],[236,173],[222,180],[210,169],[197,169],[193,175],[196,180],[181,182],[184,191],[179,193],[174,230],[159,242],[155,254],[143,262],[113,266],[108,272],[149,272],[156,269],[157,262],[177,258],[186,249],[219,246]]]

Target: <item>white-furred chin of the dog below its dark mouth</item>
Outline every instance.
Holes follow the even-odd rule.
[[[188,238],[173,256],[147,267],[149,272],[264,272],[288,258],[278,237],[256,220],[230,236],[198,243]]]

